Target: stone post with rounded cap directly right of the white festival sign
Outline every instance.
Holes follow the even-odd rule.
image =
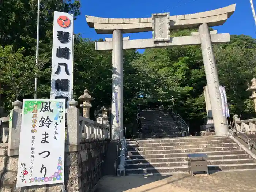
[[[79,109],[76,107],[78,102],[74,99],[69,102],[69,108],[67,109],[67,144],[79,145],[82,133],[80,133],[79,125]]]

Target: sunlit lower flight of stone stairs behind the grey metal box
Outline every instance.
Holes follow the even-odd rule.
[[[206,153],[209,172],[256,169],[256,160],[229,137],[130,139],[126,174],[187,172],[187,154]]]

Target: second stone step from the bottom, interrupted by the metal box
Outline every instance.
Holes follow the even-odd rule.
[[[227,165],[227,164],[248,164],[256,163],[253,159],[219,159],[219,160],[208,160],[208,165]],[[157,168],[157,167],[180,167],[188,166],[187,161],[173,161],[173,162],[156,162],[156,163],[136,163],[136,164],[125,164],[125,169],[138,169],[138,168]]]

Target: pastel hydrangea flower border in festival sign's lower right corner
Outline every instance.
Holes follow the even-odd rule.
[[[62,164],[62,158],[59,157],[58,164],[57,164],[57,172],[53,173],[53,175],[51,175],[49,177],[31,178],[30,182],[48,182],[48,181],[62,180],[62,171],[61,170],[63,170],[63,164]]]

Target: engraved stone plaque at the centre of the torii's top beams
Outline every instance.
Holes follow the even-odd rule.
[[[152,14],[154,41],[170,41],[170,13]]]

